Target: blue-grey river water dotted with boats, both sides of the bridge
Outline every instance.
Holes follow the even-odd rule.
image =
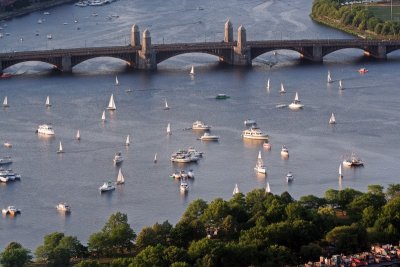
[[[227,18],[234,29],[240,24],[246,27],[248,40],[351,38],[313,23],[310,9],[311,1],[300,0],[120,0],[102,7],[64,5],[46,10],[50,15],[36,12],[2,22],[2,32],[9,35],[0,39],[0,50],[125,45],[134,23],[141,31],[150,30],[153,43],[218,41]],[[53,39],[48,40],[47,34]],[[195,77],[188,74],[191,65]],[[361,67],[369,72],[360,75]],[[6,71],[15,76],[0,81],[0,98],[7,95],[10,105],[0,112],[0,142],[13,147],[0,147],[0,156],[13,157],[10,168],[22,180],[0,184],[0,206],[15,205],[22,214],[0,218],[0,248],[15,240],[35,249],[45,234],[54,231],[76,235],[85,243],[116,211],[128,214],[136,232],[157,221],[176,223],[190,201],[229,199],[236,183],[246,193],[265,188],[268,182],[273,193],[288,191],[295,198],[322,196],[329,188],[366,190],[368,184],[398,183],[399,67],[398,53],[390,54],[387,61],[368,61],[362,51],[353,49],[332,53],[323,64],[301,62],[296,52],[271,52],[255,59],[251,69],[224,67],[216,57],[202,54],[171,58],[156,72],[131,71],[111,58],[81,63],[72,74],[59,74],[38,62],[13,66]],[[331,84],[326,83],[328,70],[334,79]],[[116,75],[120,86],[114,85]],[[339,79],[346,87],[343,91],[338,90]],[[286,95],[278,93],[281,82]],[[276,108],[290,103],[296,91],[303,110]],[[217,101],[218,93],[231,98]],[[102,124],[101,113],[111,94],[117,110],[107,112]],[[53,104],[48,109],[47,95]],[[163,110],[165,98],[171,107],[168,111]],[[336,114],[335,126],[328,125],[331,112]],[[263,150],[262,143],[241,139],[248,118],[270,135],[271,151]],[[211,133],[220,136],[219,142],[201,142],[199,133],[186,129],[199,119],[212,125]],[[52,123],[55,138],[35,134],[42,123]],[[171,136],[165,131],[168,123]],[[74,140],[78,129],[79,143]],[[125,147],[128,134],[132,143]],[[59,141],[64,154],[56,153]],[[289,148],[289,159],[280,157],[283,144]],[[181,195],[179,183],[168,175],[182,166],[171,164],[169,158],[188,146],[203,151],[204,158],[187,167],[194,170],[195,179],[188,194]],[[267,177],[253,170],[259,150]],[[98,187],[117,175],[112,159],[118,151],[125,158],[126,183],[100,195]],[[339,184],[339,164],[353,151],[365,167],[344,169]],[[289,185],[288,171],[295,177]],[[60,201],[72,206],[69,216],[55,209]]]

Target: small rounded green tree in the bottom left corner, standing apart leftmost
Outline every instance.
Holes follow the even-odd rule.
[[[32,259],[29,249],[24,248],[17,242],[11,242],[0,253],[0,264],[4,267],[22,267]]]

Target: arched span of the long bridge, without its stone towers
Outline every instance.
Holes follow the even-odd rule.
[[[68,72],[72,71],[72,67],[75,65],[97,57],[119,58],[137,68],[143,68],[139,65],[142,60],[146,64],[152,64],[149,68],[154,69],[158,63],[185,53],[206,53],[215,55],[220,61],[231,65],[251,65],[251,60],[254,58],[280,49],[297,51],[304,59],[317,62],[322,61],[323,57],[329,53],[346,48],[361,49],[372,57],[385,59],[388,53],[400,49],[400,41],[364,39],[267,40],[247,41],[240,44],[240,49],[238,48],[237,41],[221,41],[153,44],[146,51],[143,51],[142,45],[14,51],[0,53],[0,73],[12,65],[27,61],[46,62]],[[236,57],[240,57],[242,61],[238,63]]]

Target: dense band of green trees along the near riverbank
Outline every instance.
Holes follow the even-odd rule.
[[[76,237],[55,232],[44,237],[35,254],[37,262],[57,267],[70,266],[71,261],[77,267],[275,267],[398,240],[400,184],[389,185],[386,192],[380,185],[368,186],[365,193],[329,189],[324,197],[299,200],[287,192],[273,195],[255,189],[228,201],[195,200],[175,226],[156,223],[137,236],[127,215],[117,212],[90,236],[87,247]],[[6,265],[15,259],[10,255],[20,255],[24,262],[31,259],[29,250],[14,242],[0,254],[0,263],[23,266]]]

